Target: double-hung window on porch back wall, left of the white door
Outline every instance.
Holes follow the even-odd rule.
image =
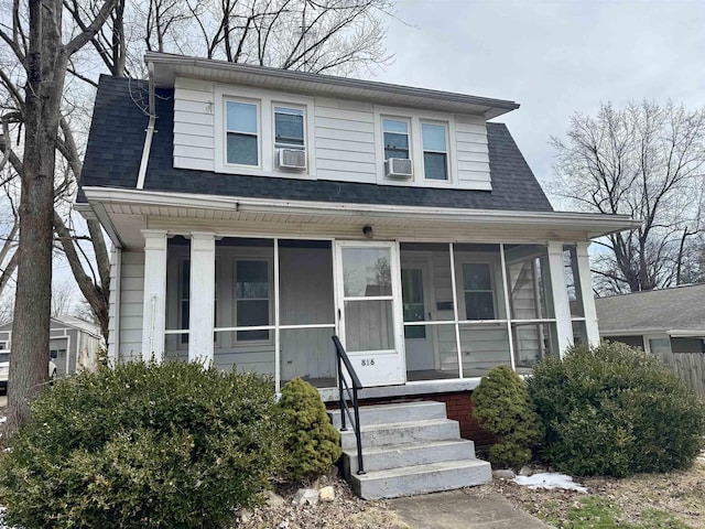
[[[236,325],[260,326],[270,323],[269,261],[236,261]],[[270,339],[268,330],[238,331],[238,342]]]

